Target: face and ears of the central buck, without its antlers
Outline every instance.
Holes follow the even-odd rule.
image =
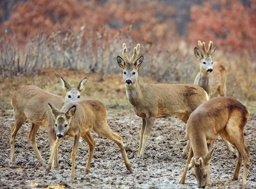
[[[138,68],[143,62],[143,56],[141,56],[135,63],[125,63],[121,57],[117,57],[117,63],[122,68],[123,71],[123,80],[125,82],[125,87],[131,87],[137,83],[139,79]]]

